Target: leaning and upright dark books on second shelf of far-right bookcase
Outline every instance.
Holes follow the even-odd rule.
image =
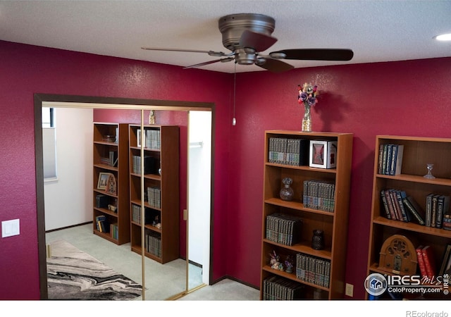
[[[404,190],[383,189],[381,200],[385,217],[404,222],[414,221],[426,227],[451,230],[450,196],[428,194],[426,211]]]

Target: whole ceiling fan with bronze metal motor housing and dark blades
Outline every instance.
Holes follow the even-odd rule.
[[[142,47],[150,51],[183,51],[209,54],[219,57],[213,61],[206,61],[185,68],[196,68],[218,62],[235,61],[240,65],[256,65],[273,73],[281,73],[294,68],[288,60],[316,60],[316,61],[350,61],[354,53],[350,49],[283,49],[262,54],[274,43],[276,20],[268,15],[257,13],[238,13],[225,15],[218,21],[219,31],[223,37],[223,45],[230,53],[222,51],[202,51],[196,49],[160,49]]]

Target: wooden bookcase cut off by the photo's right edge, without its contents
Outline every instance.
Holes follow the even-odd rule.
[[[399,175],[385,175],[379,173],[379,158],[381,146],[384,144],[398,144],[404,146],[402,156],[401,173]],[[383,153],[383,152],[382,152]],[[451,244],[451,231],[443,228],[432,228],[420,225],[415,220],[404,222],[401,220],[388,219],[385,216],[381,191],[387,189],[399,189],[419,204],[426,211],[426,196],[431,193],[451,194],[451,139],[434,137],[408,137],[393,135],[377,135],[374,151],[374,173],[373,173],[373,197],[371,205],[371,227],[369,230],[369,256],[368,275],[380,273],[381,275],[404,275],[406,273],[397,271],[388,272],[388,266],[380,266],[381,250],[385,240],[393,235],[407,237],[416,248],[419,245],[430,245],[435,262],[435,272],[440,270],[443,254],[447,244]],[[428,170],[426,164],[433,163],[433,179],[424,178]],[[383,252],[384,253],[384,252]],[[416,274],[419,274],[419,266]],[[415,273],[413,273],[415,274]],[[409,273],[412,275],[412,273]],[[414,299],[420,294],[406,294],[409,299]],[[381,297],[388,297],[387,294]],[[367,297],[369,298],[369,297]],[[421,298],[443,299],[440,294],[424,294]],[[449,295],[448,298],[449,299]]]

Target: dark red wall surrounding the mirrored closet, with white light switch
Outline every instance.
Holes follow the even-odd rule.
[[[0,41],[0,299],[39,299],[33,94],[72,94],[215,104],[214,280],[227,274],[228,149],[232,75]],[[138,119],[139,120],[139,119]],[[174,118],[171,118],[174,120]],[[186,133],[186,132],[185,132]],[[185,171],[186,173],[186,171]],[[217,250],[217,251],[216,251]],[[216,254],[215,254],[216,253]]]

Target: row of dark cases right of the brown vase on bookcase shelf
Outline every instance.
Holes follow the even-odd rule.
[[[328,211],[335,209],[335,182],[332,180],[304,180],[304,207]]]

